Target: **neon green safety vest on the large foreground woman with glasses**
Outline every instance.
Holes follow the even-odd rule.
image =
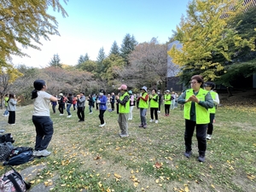
[[[200,101],[206,100],[206,95],[208,90],[203,90],[200,88],[197,98]],[[193,96],[194,92],[192,89],[186,90],[186,100],[189,99],[190,96]],[[190,119],[190,109],[191,109],[191,102],[184,103],[184,119]],[[207,108],[202,107],[198,103],[195,102],[195,122],[196,124],[208,124],[210,123],[210,114]]]

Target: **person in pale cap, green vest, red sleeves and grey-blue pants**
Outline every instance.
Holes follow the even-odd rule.
[[[141,116],[141,125],[139,127],[143,127],[144,129],[147,128],[147,121],[146,121],[146,113],[148,109],[148,93],[147,93],[147,87],[143,86],[141,88],[142,94],[138,98],[140,108],[140,116]]]

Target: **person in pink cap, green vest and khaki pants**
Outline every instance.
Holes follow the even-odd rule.
[[[122,84],[118,90],[120,90],[120,96],[116,96],[117,103],[119,103],[119,128],[121,133],[119,137],[129,137],[128,135],[128,113],[130,112],[130,96],[127,92],[126,84]],[[132,93],[131,93],[132,95]]]

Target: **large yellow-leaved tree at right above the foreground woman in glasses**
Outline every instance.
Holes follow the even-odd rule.
[[[183,44],[168,52],[174,63],[182,67],[181,77],[200,73],[205,79],[217,79],[225,73],[224,66],[232,61],[236,50],[253,48],[253,41],[241,38],[229,20],[242,11],[243,1],[197,0],[189,4],[187,17],[177,26],[176,39]],[[228,15],[228,16],[227,16]]]

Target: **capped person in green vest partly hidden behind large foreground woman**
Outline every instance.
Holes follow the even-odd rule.
[[[215,113],[216,113],[216,106],[219,104],[219,98],[218,98],[218,93],[213,91],[215,84],[213,82],[207,82],[205,85],[205,90],[208,90],[212,96],[212,100],[214,103],[213,108],[209,108],[208,111],[210,113],[210,123],[208,124],[208,129],[207,129],[207,139],[210,140],[212,139],[212,131],[213,131],[213,120],[215,118]]]

